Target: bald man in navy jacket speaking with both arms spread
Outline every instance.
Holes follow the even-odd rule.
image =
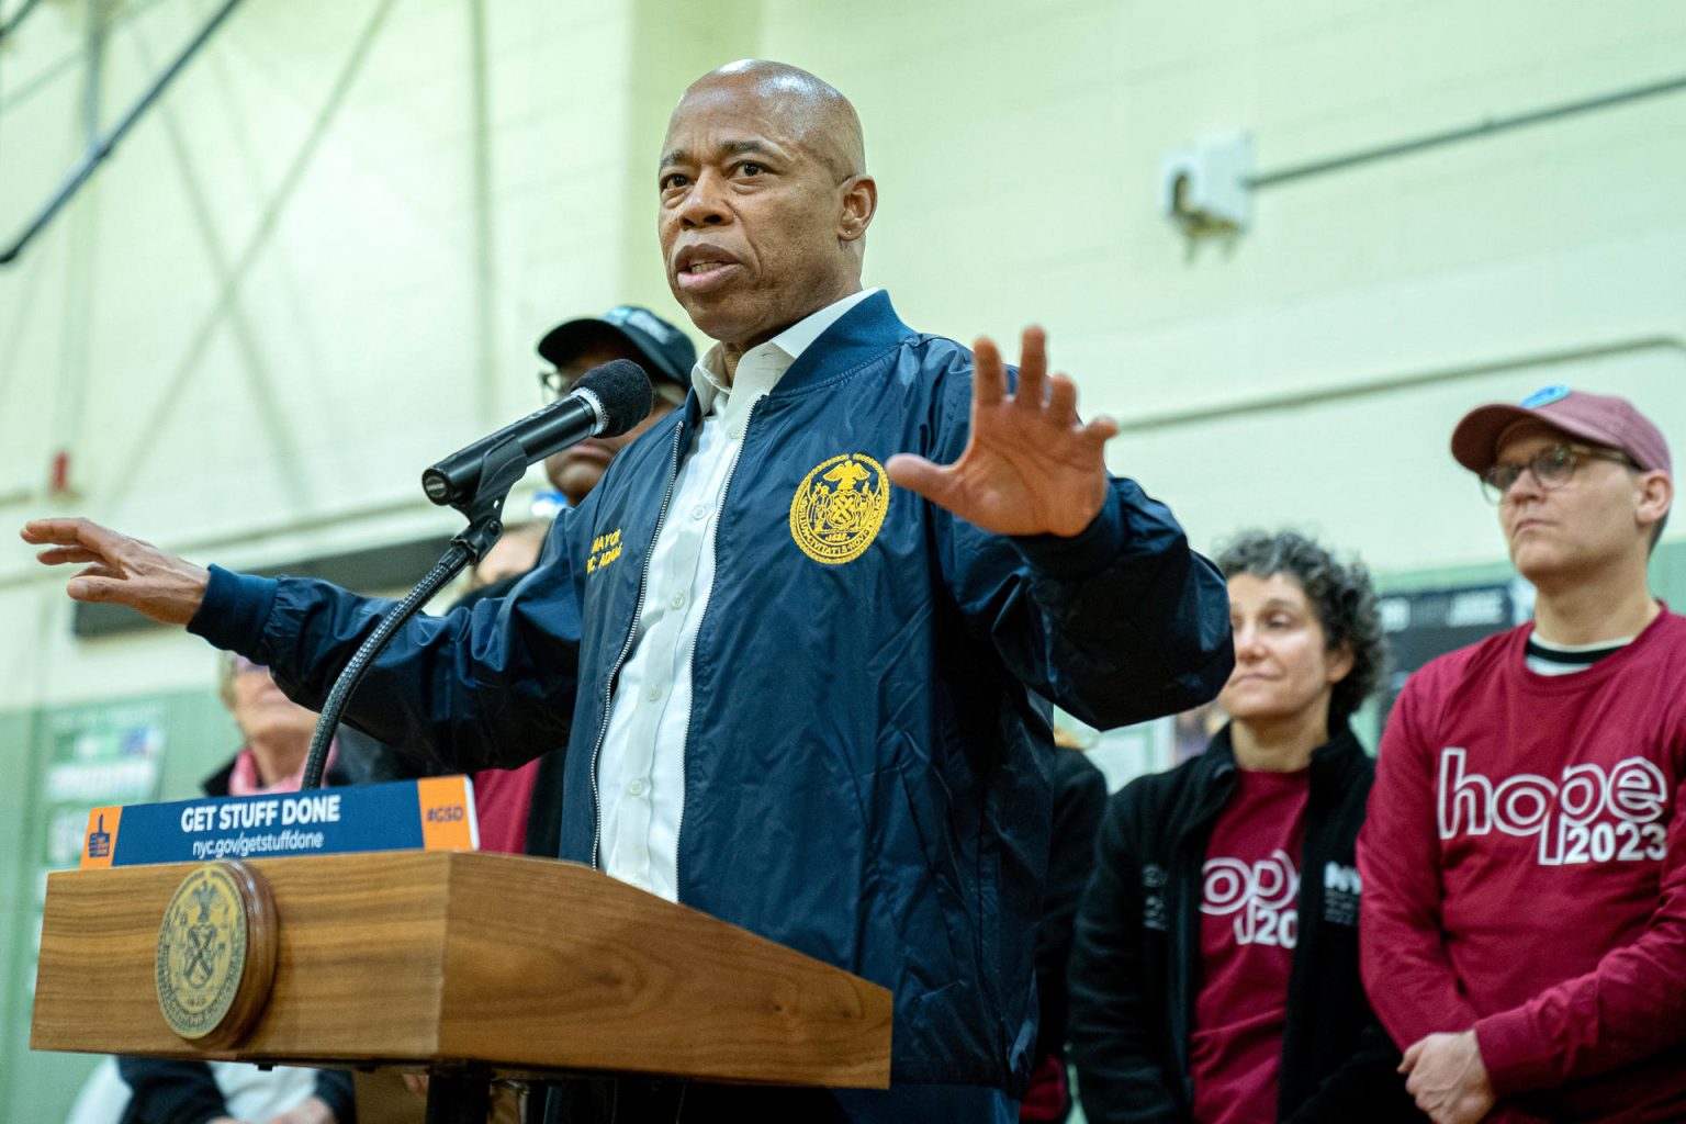
[[[668,283],[717,340],[686,404],[509,597],[411,622],[349,716],[460,770],[565,741],[563,858],[895,994],[889,1092],[629,1080],[617,1119],[1012,1119],[1044,699],[1099,726],[1209,699],[1224,583],[1108,475],[1116,426],[1077,418],[1039,330],[1013,386],[990,342],[973,356],[862,292],[877,185],[836,89],[772,62],[703,76],[658,184]],[[185,624],[312,704],[383,607],[84,521],[24,536],[88,563],[71,597]]]

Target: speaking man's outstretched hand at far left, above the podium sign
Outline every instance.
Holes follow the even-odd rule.
[[[34,519],[22,536],[47,548],[42,565],[83,566],[64,586],[71,598],[128,605],[167,625],[192,620],[211,583],[209,570],[88,519]]]

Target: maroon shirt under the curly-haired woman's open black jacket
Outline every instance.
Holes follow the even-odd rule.
[[[1205,844],[1204,972],[1189,1043],[1199,1124],[1276,1119],[1308,792],[1310,770],[1236,770],[1236,789]]]

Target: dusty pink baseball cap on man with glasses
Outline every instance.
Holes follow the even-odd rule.
[[[1614,394],[1588,394],[1566,386],[1534,391],[1516,406],[1494,403],[1463,415],[1452,431],[1452,455],[1470,472],[1480,474],[1499,457],[1499,440],[1519,421],[1539,421],[1593,445],[1619,448],[1646,472],[1673,474],[1669,443],[1634,403]]]

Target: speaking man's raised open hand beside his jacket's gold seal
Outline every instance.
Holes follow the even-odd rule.
[[[973,366],[971,436],[959,460],[897,453],[885,463],[890,482],[995,534],[1081,533],[1106,504],[1104,448],[1118,425],[1077,418],[1077,388],[1047,374],[1042,329],[1025,329],[1015,393],[993,342],[978,340]]]

